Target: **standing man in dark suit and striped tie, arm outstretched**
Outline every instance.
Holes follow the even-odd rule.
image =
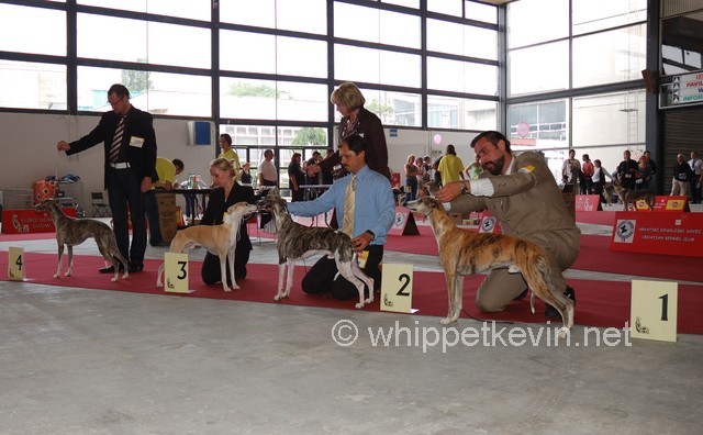
[[[143,193],[157,180],[156,133],[152,114],[130,103],[130,91],[123,85],[110,87],[108,102],[112,111],[103,113],[92,132],[71,143],[60,141],[56,148],[72,155],[100,142],[104,144],[104,186],[110,199],[114,235],[120,253],[130,260],[132,274],[144,269],[146,225]],[[131,247],[127,210],[133,217]],[[100,269],[103,274],[113,271],[112,267]]]

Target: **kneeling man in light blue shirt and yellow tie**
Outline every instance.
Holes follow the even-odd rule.
[[[300,216],[316,216],[331,209],[336,210],[338,227],[352,237],[352,244],[366,261],[359,266],[373,279],[373,287],[381,286],[379,264],[383,259],[383,244],[395,217],[395,203],[391,185],[367,165],[367,142],[353,134],[339,144],[342,165],[349,172],[314,201],[291,202],[288,211]],[[358,194],[357,194],[358,193]],[[366,253],[365,253],[366,252]],[[337,276],[334,258],[323,256],[302,279],[306,293],[332,292],[341,300],[358,298],[358,290],[342,276]],[[373,289],[368,289],[373,291]]]

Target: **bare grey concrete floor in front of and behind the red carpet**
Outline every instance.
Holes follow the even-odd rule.
[[[55,252],[51,239],[0,249],[10,245]],[[78,253],[97,254],[94,243]],[[275,258],[272,242],[255,245],[252,261]],[[386,260],[439,267],[403,253]],[[570,346],[555,346],[554,325],[442,327],[431,316],[31,282],[0,282],[0,301],[1,434],[698,434],[703,421],[698,335],[620,332],[595,345],[596,330],[585,345],[577,325]],[[533,338],[511,343],[513,328]],[[478,335],[462,343],[462,332]]]

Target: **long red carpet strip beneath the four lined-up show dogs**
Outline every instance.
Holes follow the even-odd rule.
[[[86,289],[119,290],[137,293],[172,294],[164,293],[156,287],[156,270],[160,261],[147,260],[146,270],[142,274],[130,276],[129,280],[111,282],[110,276],[100,275],[97,269],[102,267],[102,259],[96,256],[76,256],[74,276],[60,279],[52,278],[56,271],[56,255],[25,253],[25,270],[27,280],[33,283],[52,285],[59,287],[78,287]],[[0,253],[0,280],[8,280],[8,254]],[[241,280],[239,290],[224,293],[221,286],[204,286],[200,281],[200,263],[190,265],[190,288],[194,292],[182,295],[187,298],[211,298],[236,301],[281,303],[304,306],[322,306],[333,309],[356,310],[354,301],[337,301],[322,295],[308,295],[300,289],[305,268],[295,268],[295,283],[291,297],[282,302],[275,302],[278,281],[278,267],[275,265],[248,266],[248,276]],[[465,279],[465,311],[472,317],[514,321],[528,323],[545,323],[544,303],[536,300],[536,314],[529,313],[527,298],[512,303],[507,310],[501,313],[480,313],[473,306],[476,289],[483,277],[475,276]],[[578,325],[623,327],[629,320],[629,282],[569,280],[578,292],[578,308],[576,323]],[[417,314],[445,316],[447,312],[447,295],[444,276],[437,272],[414,274],[413,306],[419,309]],[[703,334],[703,316],[700,315],[700,306],[703,306],[703,289],[699,286],[679,286],[679,333]],[[378,300],[367,311],[378,311]],[[464,313],[464,316],[467,313]]]

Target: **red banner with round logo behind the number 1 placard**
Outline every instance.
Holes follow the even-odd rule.
[[[703,213],[616,212],[611,250],[703,257]]]

